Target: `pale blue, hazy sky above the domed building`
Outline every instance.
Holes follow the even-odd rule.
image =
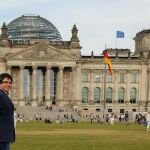
[[[49,20],[64,41],[74,24],[82,55],[100,55],[105,48],[135,50],[136,33],[150,28],[150,0],[0,0],[0,26],[27,14]],[[123,31],[124,38],[116,38]]]

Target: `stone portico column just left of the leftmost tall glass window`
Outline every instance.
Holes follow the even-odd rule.
[[[25,106],[25,101],[24,101],[24,66],[20,66],[20,71],[19,71],[19,106]]]

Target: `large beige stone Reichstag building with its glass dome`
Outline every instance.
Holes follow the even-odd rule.
[[[63,41],[58,29],[38,15],[3,23],[0,72],[13,77],[10,97],[16,106],[102,112],[105,104],[106,112],[150,110],[150,30],[135,35],[134,53],[107,49],[112,75],[105,75],[103,54],[81,55],[76,25],[70,32],[70,41]]]

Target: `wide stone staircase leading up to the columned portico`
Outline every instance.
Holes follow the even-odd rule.
[[[16,113],[23,120],[33,120],[35,116],[41,117],[42,120],[49,118],[50,120],[57,120],[59,117],[60,120],[64,119],[64,115],[68,115],[68,118],[71,118],[71,114],[74,119],[79,119],[79,113],[73,111],[71,107],[57,107],[56,105],[52,105],[52,109],[46,109],[45,106],[32,107],[32,106],[17,106]]]

